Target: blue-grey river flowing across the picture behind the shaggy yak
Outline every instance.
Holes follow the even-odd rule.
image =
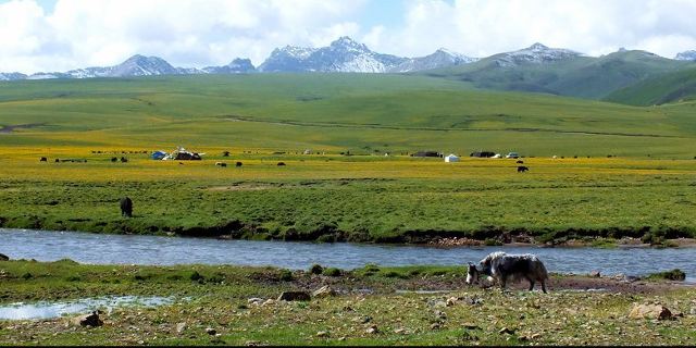
[[[72,259],[92,264],[238,264],[307,270],[313,263],[344,270],[378,265],[477,262],[493,251],[535,253],[549,272],[645,275],[680,269],[696,282],[696,249],[539,248],[395,246],[315,244],[295,241],[220,240],[134,235],[101,235],[0,228],[0,253],[11,259],[57,261]],[[1,264],[0,264],[1,265]]]

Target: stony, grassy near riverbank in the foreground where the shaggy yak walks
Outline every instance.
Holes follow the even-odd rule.
[[[175,297],[160,307],[0,320],[1,345],[688,345],[696,290],[679,282],[551,275],[549,294],[464,284],[464,268],[368,265],[288,271],[232,265],[0,262],[0,304],[84,297]],[[278,301],[283,291],[325,297]],[[326,290],[328,289],[331,290]],[[631,319],[659,302],[667,320]],[[569,306],[571,304],[571,306]],[[398,310],[397,310],[398,309]]]

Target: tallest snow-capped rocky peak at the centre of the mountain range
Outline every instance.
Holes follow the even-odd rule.
[[[328,47],[303,48],[286,46],[275,49],[261,72],[350,72],[385,73],[407,59],[371,51],[365,45],[344,36]]]

